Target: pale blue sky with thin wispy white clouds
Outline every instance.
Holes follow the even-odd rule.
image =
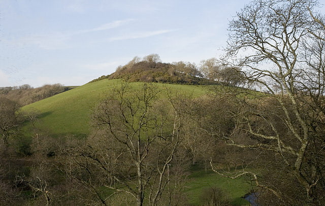
[[[134,56],[166,63],[222,54],[249,0],[0,0],[0,87],[83,85]]]

